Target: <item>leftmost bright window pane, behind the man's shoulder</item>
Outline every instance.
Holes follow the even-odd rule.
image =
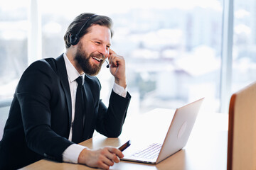
[[[6,1],[0,6],[0,101],[14,95],[27,67],[28,1]]]

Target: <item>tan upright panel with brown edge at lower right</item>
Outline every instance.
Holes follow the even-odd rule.
[[[227,169],[256,169],[256,82],[230,98]]]

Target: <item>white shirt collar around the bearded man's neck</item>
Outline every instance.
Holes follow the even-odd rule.
[[[68,74],[68,81],[71,83],[75,81],[78,77],[82,76],[82,84],[84,84],[85,81],[85,73],[79,74],[78,70],[75,69],[73,64],[68,60],[68,56],[64,53],[63,54],[64,61],[65,61],[65,67],[67,69],[67,74]]]

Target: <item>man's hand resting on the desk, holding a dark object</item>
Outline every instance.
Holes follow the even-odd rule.
[[[83,149],[78,157],[78,164],[85,164],[100,169],[110,169],[114,163],[120,162],[124,157],[122,152],[115,147],[104,147],[102,149]]]

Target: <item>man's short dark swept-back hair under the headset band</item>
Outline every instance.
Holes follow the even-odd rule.
[[[95,13],[81,13],[79,16],[75,17],[74,21],[70,23],[68,26],[68,29],[64,35],[64,41],[65,41],[65,47],[69,48],[71,46],[70,43],[70,35],[75,35],[78,33],[78,31],[82,28],[84,23],[91,17],[95,15]],[[112,19],[108,16],[94,16],[88,21],[79,34],[79,38],[81,38],[83,35],[88,33],[88,28],[90,28],[92,25],[100,25],[100,26],[106,26],[107,28],[110,28],[111,32],[111,38],[113,36],[113,30],[112,30]]]

